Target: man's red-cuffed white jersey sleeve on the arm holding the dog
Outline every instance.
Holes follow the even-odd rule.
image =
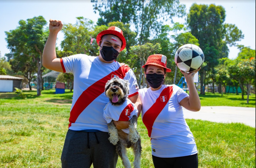
[[[129,71],[126,72],[124,79],[128,80],[130,83],[128,97],[133,97],[133,96],[137,95],[138,91],[139,91],[139,86],[137,83],[137,79],[131,69],[129,69]]]

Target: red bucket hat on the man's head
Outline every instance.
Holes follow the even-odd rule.
[[[126,46],[126,41],[125,41],[125,38],[124,38],[124,35],[123,35],[123,31],[120,28],[116,27],[116,26],[111,26],[111,27],[108,28],[108,30],[104,30],[104,31],[100,32],[97,35],[96,41],[97,41],[98,45],[100,45],[99,42],[101,41],[102,36],[109,35],[109,34],[110,35],[115,35],[119,39],[121,39],[123,44],[120,48],[120,51],[122,51]]]

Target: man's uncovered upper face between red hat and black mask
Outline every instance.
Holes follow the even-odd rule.
[[[109,46],[115,48],[118,52],[120,52],[122,41],[114,35],[104,35],[101,39],[100,46],[100,50],[103,46]]]

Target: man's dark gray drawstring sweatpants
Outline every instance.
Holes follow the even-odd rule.
[[[115,168],[116,147],[108,140],[108,132],[68,130],[62,155],[62,168]]]

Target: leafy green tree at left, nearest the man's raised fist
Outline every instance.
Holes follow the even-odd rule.
[[[42,16],[20,20],[19,26],[9,32],[5,32],[7,47],[14,56],[32,57],[37,63],[37,96],[41,95],[40,85],[42,83],[42,53],[44,44],[48,37],[48,30],[44,30],[46,21]],[[14,59],[16,59],[14,57]],[[43,89],[43,87],[42,87]]]

